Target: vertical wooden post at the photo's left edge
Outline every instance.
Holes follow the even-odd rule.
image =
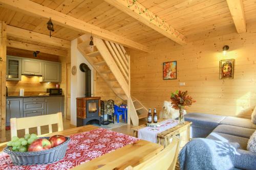
[[[6,118],[6,22],[0,22],[0,141],[5,141],[5,118]]]

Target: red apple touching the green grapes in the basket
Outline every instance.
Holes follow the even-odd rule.
[[[36,139],[34,140],[28,148],[28,152],[38,152],[38,151],[44,151],[44,150],[49,150],[52,148],[51,142],[46,139]]]

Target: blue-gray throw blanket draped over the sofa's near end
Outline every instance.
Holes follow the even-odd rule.
[[[180,151],[180,169],[237,169],[234,168],[234,160],[238,154],[237,148],[239,148],[239,143],[204,138],[192,139]]]

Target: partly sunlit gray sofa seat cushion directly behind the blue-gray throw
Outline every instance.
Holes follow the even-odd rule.
[[[245,137],[233,136],[219,132],[212,132],[206,138],[212,140],[219,140],[223,142],[238,142],[240,144],[239,149],[242,150],[246,150],[247,142],[249,140],[248,138]]]

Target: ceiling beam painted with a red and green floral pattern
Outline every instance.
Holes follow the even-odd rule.
[[[163,21],[156,14],[146,9],[143,5],[137,1],[127,1],[127,0],[104,0],[105,2],[113,5],[122,12],[132,16],[133,18],[144,23],[146,26],[152,28],[153,30],[161,33],[162,35],[172,39],[173,41],[184,45],[186,44],[187,37],[180,33],[178,30],[174,29],[172,26],[168,25],[167,22]]]

